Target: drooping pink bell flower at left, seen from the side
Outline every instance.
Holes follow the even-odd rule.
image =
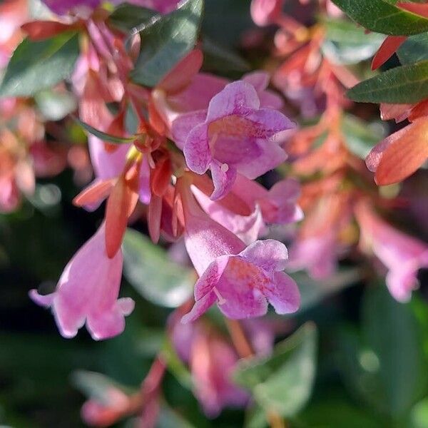
[[[105,245],[105,225],[78,250],[61,275],[56,291],[40,295],[30,291],[38,305],[51,307],[63,337],[74,337],[86,327],[94,340],[119,335],[125,328],[126,315],[134,302],[129,297],[118,299],[121,285],[122,251],[108,258]]]

